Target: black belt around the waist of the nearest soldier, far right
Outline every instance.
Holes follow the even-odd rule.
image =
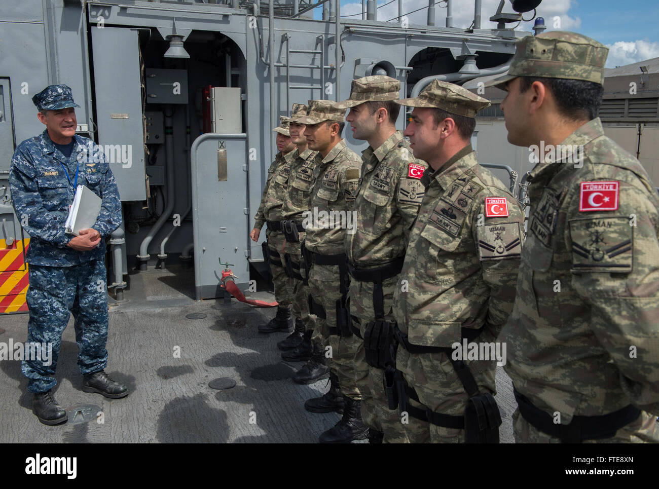
[[[583,440],[602,440],[616,436],[617,430],[627,426],[641,415],[631,404],[613,413],[601,416],[573,416],[570,424],[556,424],[554,417],[531,404],[529,399],[513,389],[519,413],[534,428],[554,436],[561,443],[581,443]]]

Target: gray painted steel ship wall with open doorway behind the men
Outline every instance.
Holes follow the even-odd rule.
[[[479,69],[501,67],[514,52],[515,37],[527,34],[412,24],[403,29],[388,22],[345,19],[339,26],[337,88],[334,22],[275,16],[271,53],[267,11],[254,16],[227,5],[116,0],[82,6],[71,0],[22,0],[11,9],[1,8],[0,101],[11,105],[13,128],[11,147],[9,136],[0,132],[5,138],[0,178],[6,178],[14,144],[43,130],[32,96],[47,84],[68,84],[81,106],[76,109],[78,132],[101,146],[132,148],[130,164],[126,158],[111,163],[124,202],[125,229],[125,242],[117,235],[112,243],[123,258],[114,285],[121,289],[127,268],[153,266],[156,257],[164,262],[167,254],[171,262],[194,246],[197,299],[221,295],[219,259],[233,264],[243,289],[250,272],[255,273],[250,262],[262,260],[260,243],[252,243],[248,233],[274,156],[272,121],[287,115],[293,102],[343,100],[351,80],[367,74],[394,76],[401,80],[401,97],[409,96],[427,76],[458,76],[473,54]],[[190,59],[163,57],[172,35],[181,36]],[[179,99],[149,88],[156,78],[169,90],[172,70],[184,70],[184,93],[175,94]],[[199,90],[210,85],[241,90],[241,120],[229,135],[204,134]],[[401,111],[399,129],[404,117]],[[344,136],[354,150],[365,148],[349,130]],[[226,180],[220,175],[224,159]],[[158,216],[166,204],[171,208],[167,219]],[[7,206],[0,211],[11,214]],[[175,214],[180,226],[173,230]],[[147,239],[158,217],[163,225]],[[145,239],[150,262],[140,254]]]

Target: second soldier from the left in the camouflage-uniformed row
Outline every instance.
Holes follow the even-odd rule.
[[[297,118],[306,115],[307,106],[302,103],[293,103],[291,120],[289,121],[289,134],[296,148],[290,155],[289,177],[286,192],[283,195],[281,214],[285,244],[285,269],[287,275],[293,278],[293,315],[295,316],[295,331],[277,347],[285,353],[281,354],[284,360],[297,362],[308,360],[311,357],[311,335],[316,326],[316,316],[309,314],[307,297],[308,287],[305,285],[304,259],[300,243],[304,241],[302,220],[304,212],[311,208],[311,190],[314,183],[314,158],[316,153],[308,148],[304,137],[304,124],[297,122]]]

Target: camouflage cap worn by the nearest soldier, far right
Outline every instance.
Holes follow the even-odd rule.
[[[551,31],[517,41],[517,50],[507,74],[487,82],[506,90],[517,76],[565,78],[604,84],[604,63],[609,49],[575,32]]]

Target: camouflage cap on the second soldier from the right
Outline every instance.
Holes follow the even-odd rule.
[[[410,107],[442,109],[465,117],[476,117],[478,111],[490,107],[489,100],[469,92],[467,88],[440,80],[432,80],[417,98],[405,98],[395,102]]]

